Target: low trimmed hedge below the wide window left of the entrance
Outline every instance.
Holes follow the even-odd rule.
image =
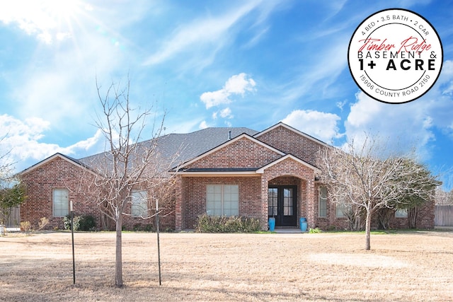
[[[260,230],[258,219],[242,216],[198,216],[197,233],[252,233]]]

